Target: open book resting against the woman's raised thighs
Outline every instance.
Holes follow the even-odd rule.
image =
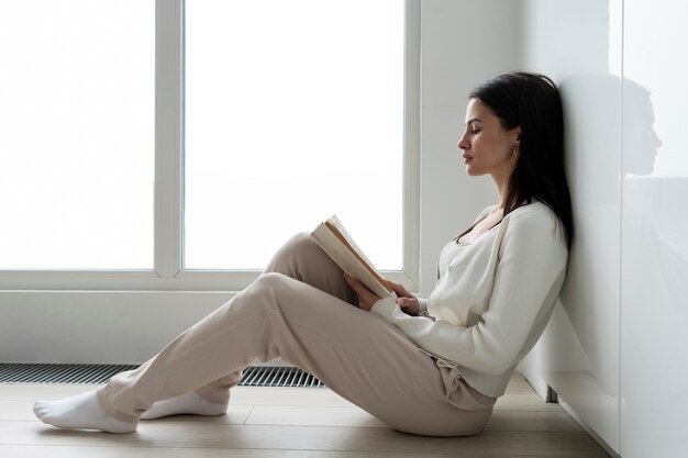
[[[342,270],[357,278],[379,298],[384,299],[392,295],[392,290],[385,286],[382,277],[356,246],[342,222],[335,215],[320,223],[311,232],[311,237]]]

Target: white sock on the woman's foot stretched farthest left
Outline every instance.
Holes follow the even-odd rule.
[[[36,401],[33,412],[43,423],[62,428],[100,429],[107,433],[133,433],[138,423],[129,423],[106,414],[96,391],[58,401]]]

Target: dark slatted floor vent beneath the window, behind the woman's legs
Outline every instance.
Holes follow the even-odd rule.
[[[136,365],[0,364],[0,383],[106,383]],[[324,383],[290,366],[249,366],[240,387],[313,387]]]

